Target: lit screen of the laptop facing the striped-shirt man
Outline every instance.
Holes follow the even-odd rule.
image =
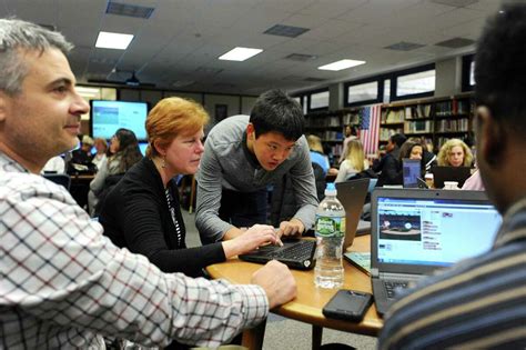
[[[488,202],[378,197],[377,262],[447,267],[488,251],[502,217]]]

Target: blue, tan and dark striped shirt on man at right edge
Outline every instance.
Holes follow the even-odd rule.
[[[424,279],[390,310],[380,349],[526,348],[526,198],[490,251]]]

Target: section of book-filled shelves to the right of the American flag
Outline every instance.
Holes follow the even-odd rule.
[[[435,151],[451,138],[466,139],[475,103],[472,93],[398,101],[382,106],[380,143],[398,132],[433,142]]]

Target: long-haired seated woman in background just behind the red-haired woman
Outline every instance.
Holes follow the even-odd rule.
[[[112,156],[101,162],[95,178],[90,182],[88,207],[90,214],[94,217],[100,213],[99,201],[103,201],[122,176],[142,159],[135,133],[124,128],[117,130],[111,138],[110,152]]]

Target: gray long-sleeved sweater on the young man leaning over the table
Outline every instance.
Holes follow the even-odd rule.
[[[233,226],[220,219],[223,189],[254,192],[291,174],[299,210],[294,218],[305,229],[314,223],[317,208],[316,186],[305,137],[297,139],[294,149],[276,169],[266,171],[246,147],[249,116],[233,116],[218,123],[209,133],[198,172],[195,226],[204,244],[218,242]],[[265,223],[265,222],[260,222]]]

